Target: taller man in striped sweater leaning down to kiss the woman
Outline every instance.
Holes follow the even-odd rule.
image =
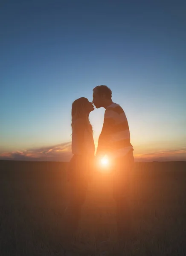
[[[112,101],[112,91],[106,85],[93,89],[93,104],[105,108],[102,132],[96,157],[107,155],[113,165],[113,198],[116,201],[116,222],[120,244],[129,239],[130,208],[128,205],[130,174],[134,165],[130,131],[122,107]]]

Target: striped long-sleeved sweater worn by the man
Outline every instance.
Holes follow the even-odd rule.
[[[133,146],[125,112],[118,104],[112,103],[105,110],[96,154],[107,154],[116,158],[125,156],[130,150],[133,151]]]

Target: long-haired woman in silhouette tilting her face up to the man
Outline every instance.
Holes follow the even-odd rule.
[[[88,182],[93,167],[95,145],[89,114],[94,110],[86,98],[76,99],[72,104],[72,153],[68,170],[70,195],[64,213],[64,235],[66,245],[76,233],[81,217],[81,206],[85,201]]]

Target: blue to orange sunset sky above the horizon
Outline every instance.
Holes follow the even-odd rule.
[[[186,160],[186,2],[7,0],[0,159],[68,161],[71,106],[105,84],[135,160]],[[97,146],[104,108],[90,113]]]

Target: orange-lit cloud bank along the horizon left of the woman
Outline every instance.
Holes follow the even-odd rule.
[[[1,160],[69,161],[72,156],[71,142],[54,146],[32,148],[23,151],[3,152]]]

